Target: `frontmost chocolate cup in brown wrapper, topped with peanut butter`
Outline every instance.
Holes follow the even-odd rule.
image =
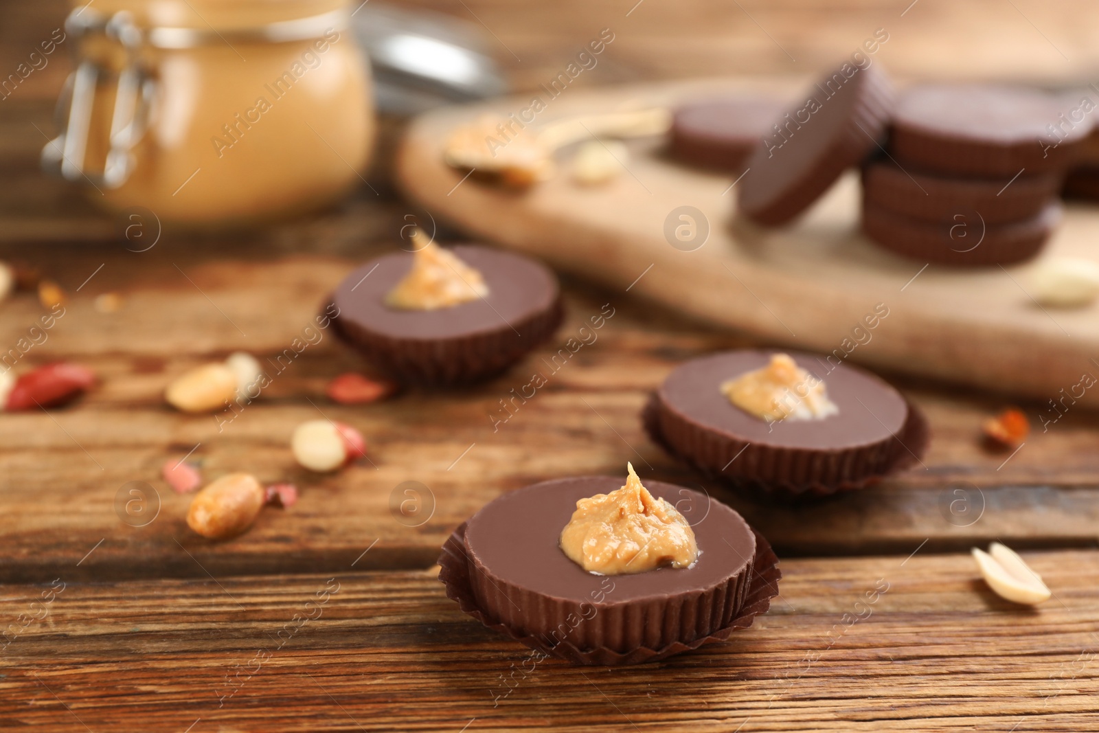
[[[576,664],[663,658],[728,638],[766,611],[778,593],[777,559],[740,514],[692,489],[635,481],[557,479],[490,502],[443,548],[447,595],[486,625]],[[636,512],[647,529],[629,518],[641,534],[600,534],[601,522],[586,527],[608,503]],[[648,552],[665,525],[676,525],[678,540],[688,530],[695,547],[677,541],[666,555]],[[566,552],[578,537],[578,553],[582,545],[589,559],[610,559],[599,567],[613,574],[588,571],[579,554]],[[634,559],[650,569],[633,571]]]

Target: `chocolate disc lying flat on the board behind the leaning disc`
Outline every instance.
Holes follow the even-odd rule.
[[[689,102],[675,110],[668,148],[684,163],[740,173],[782,111],[781,102],[766,97]]]

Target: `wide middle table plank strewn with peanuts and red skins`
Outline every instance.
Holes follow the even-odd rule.
[[[941,551],[996,537],[1023,546],[1091,545],[1096,537],[1099,458],[1091,449],[1094,420],[1083,409],[1046,433],[1037,430],[1013,455],[990,453],[980,440],[980,422],[1004,398],[901,379],[933,430],[922,465],[831,501],[775,503],[699,479],[650,443],[639,422],[648,392],[682,359],[750,342],[673,319],[629,293],[570,288],[568,319],[557,336],[476,389],[408,391],[381,403],[343,407],[324,397],[324,385],[362,365],[334,336],[317,331],[315,345],[292,362],[280,355],[357,259],[203,263],[195,251],[171,244],[136,259],[111,258],[102,248],[52,254],[58,252],[66,253],[64,265],[37,262],[70,292],[66,314],[20,366],[71,359],[93,368],[103,384],[69,408],[9,413],[0,422],[7,474],[0,577],[5,579],[55,573],[101,540],[77,571],[81,577],[201,577],[187,553],[221,574],[329,571],[375,541],[365,567],[424,567],[457,524],[502,491],[563,473],[621,474],[626,460],[654,478],[713,492],[780,553],[904,552],[924,540]],[[97,259],[102,269],[76,291]],[[124,292],[124,309],[97,312],[95,297],[116,288]],[[613,316],[599,338],[554,371],[568,335],[607,303]],[[16,296],[0,320],[0,343],[14,343],[41,312],[33,295]],[[163,401],[174,375],[242,348],[273,378],[255,402],[215,417],[180,414]],[[554,356],[557,363],[551,362]],[[500,400],[534,371],[545,374],[548,385],[512,407],[513,414],[506,411]],[[1032,417],[1036,410],[1028,408]],[[296,467],[290,433],[321,417],[358,427],[368,459],[326,477]],[[208,478],[249,470],[266,482],[292,480],[302,487],[302,500],[287,511],[264,512],[236,540],[202,540],[184,523],[189,497],[159,478],[166,460],[192,449],[190,459],[201,462]],[[397,487],[409,480],[428,491],[414,527],[390,511]],[[159,514],[146,526],[124,523],[115,504],[131,481],[147,482],[155,492],[148,511],[159,498]]]

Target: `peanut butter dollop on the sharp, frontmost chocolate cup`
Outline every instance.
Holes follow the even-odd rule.
[[[625,486],[576,502],[560,548],[588,573],[623,575],[698,559],[695,531],[675,507],[641,485],[633,466]]]

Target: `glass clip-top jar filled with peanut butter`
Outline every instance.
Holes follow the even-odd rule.
[[[108,208],[264,223],[360,182],[374,140],[345,0],[78,0],[43,165]]]

